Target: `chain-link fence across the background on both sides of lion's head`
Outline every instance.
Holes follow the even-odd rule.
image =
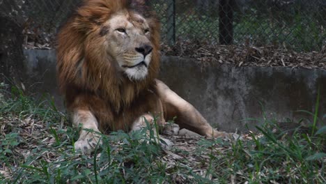
[[[0,12],[24,26],[26,44],[50,40],[81,0],[0,0]],[[117,0],[118,1],[118,0]],[[152,0],[162,40],[276,45],[320,50],[326,42],[326,0]]]

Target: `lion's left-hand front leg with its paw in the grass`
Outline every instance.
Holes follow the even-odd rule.
[[[83,153],[91,153],[98,144],[100,135],[98,135],[98,121],[88,110],[75,109],[72,112],[72,125],[79,127],[79,139],[75,142],[75,150]],[[86,130],[87,129],[87,130]]]

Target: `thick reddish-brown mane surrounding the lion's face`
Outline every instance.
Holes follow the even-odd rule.
[[[116,71],[116,63],[101,47],[102,24],[119,10],[137,11],[148,20],[153,56],[148,76],[131,81]],[[130,105],[143,90],[152,89],[159,70],[160,24],[155,14],[143,3],[133,0],[86,0],[58,35],[57,75],[61,92],[69,100],[80,91],[101,95],[111,106],[120,110]]]

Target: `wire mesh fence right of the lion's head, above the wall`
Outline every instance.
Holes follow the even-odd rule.
[[[172,43],[186,39],[208,44],[281,45],[311,51],[320,50],[326,42],[325,0],[152,2],[162,16],[163,38]],[[169,10],[171,4],[175,5],[173,10]]]

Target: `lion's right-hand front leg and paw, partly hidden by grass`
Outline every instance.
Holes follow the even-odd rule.
[[[157,120],[156,125],[154,125],[154,127],[152,128],[152,130],[154,132],[153,137],[154,137],[154,140],[157,143],[160,143],[162,148],[168,149],[169,146],[172,145],[171,141],[169,141],[168,139],[164,139],[162,137],[159,137],[159,134],[157,132],[157,130],[160,129],[160,126],[162,126],[163,122],[164,122],[164,120],[162,118]],[[142,116],[137,118],[137,120],[134,121],[134,123],[132,123],[132,129],[131,130],[135,131],[135,130],[141,130],[142,128],[146,128],[148,123],[149,123],[149,125],[153,126],[153,124],[155,123],[154,117],[152,115],[150,115],[150,114],[143,114]],[[155,127],[155,126],[158,126],[158,127]],[[147,134],[150,135],[150,132],[147,131]],[[164,141],[164,142],[162,142],[161,140]]]

